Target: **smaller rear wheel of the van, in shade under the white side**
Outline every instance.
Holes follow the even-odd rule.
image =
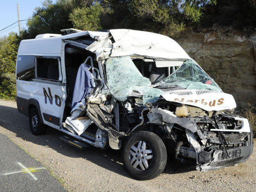
[[[32,108],[30,110],[29,121],[30,130],[34,135],[42,135],[46,132],[46,126],[41,123],[37,109]]]

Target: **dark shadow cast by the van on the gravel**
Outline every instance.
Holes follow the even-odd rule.
[[[80,150],[61,141],[60,136],[64,135],[64,133],[55,128],[48,127],[47,132],[44,135],[33,135],[29,128],[29,118],[20,114],[17,108],[0,105],[0,114],[0,126],[14,132],[16,137],[20,137],[25,141],[37,145],[47,146],[70,158],[83,158],[89,160],[98,166],[131,178],[123,169],[121,150],[116,151],[110,148],[102,150],[93,146],[88,147],[85,150]],[[184,166],[173,158],[168,158],[163,173],[177,174],[193,170],[194,168],[192,166]]]

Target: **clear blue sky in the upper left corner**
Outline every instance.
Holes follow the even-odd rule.
[[[42,6],[44,0],[0,0],[0,30],[18,21],[17,3],[19,4],[20,20],[32,16],[34,8]],[[55,0],[53,0],[55,2]],[[27,28],[27,21],[21,21],[21,28]],[[19,33],[18,22],[9,28],[0,31],[0,37],[8,35],[9,32]]]

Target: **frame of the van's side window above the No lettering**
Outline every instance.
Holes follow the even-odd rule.
[[[42,58],[42,59],[57,59],[57,60],[58,60],[59,79],[58,79],[58,80],[55,80],[55,79],[49,79],[49,78],[41,78],[41,77],[38,77],[38,76],[37,76],[37,58]],[[61,57],[35,56],[34,63],[35,63],[35,79],[62,83],[62,81],[63,81],[63,75],[62,75]],[[48,73],[48,72],[47,72],[47,73]],[[46,74],[46,75],[47,75],[47,74]]]

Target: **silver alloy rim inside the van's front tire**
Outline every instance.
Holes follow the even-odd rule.
[[[147,169],[152,158],[152,150],[145,141],[137,141],[131,146],[129,151],[129,161],[135,169],[141,171]]]

